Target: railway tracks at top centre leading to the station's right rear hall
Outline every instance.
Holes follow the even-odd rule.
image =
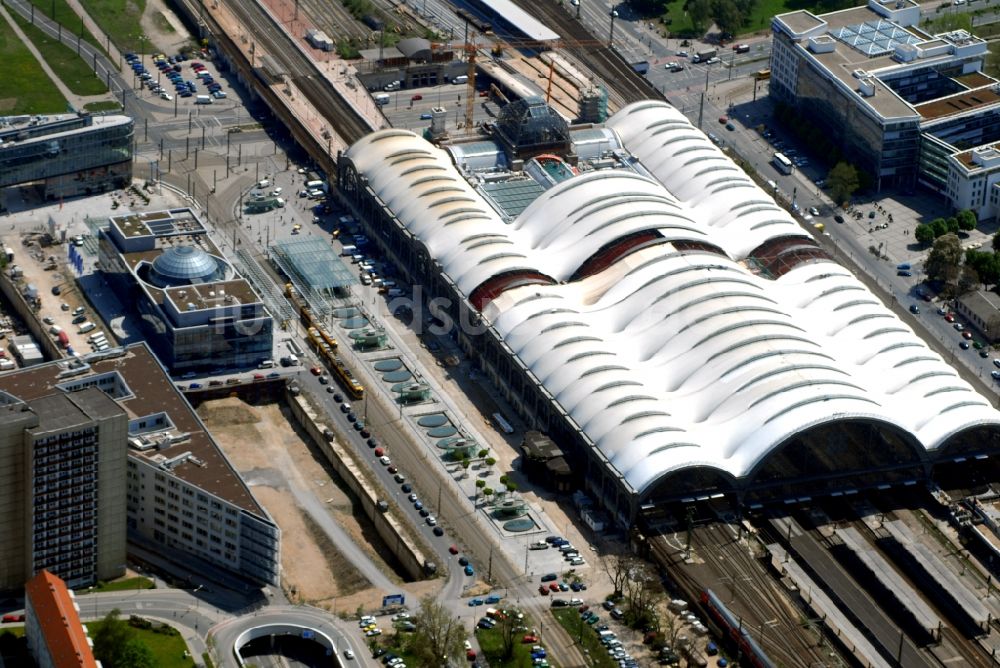
[[[562,35],[567,41],[564,50],[586,63],[604,81],[609,91],[619,98],[618,102],[624,105],[650,98],[662,99],[663,96],[659,91],[637,74],[621,56],[600,45],[600,41],[570,16],[560,3],[530,2],[530,0],[513,0],[513,2]],[[577,42],[579,46],[573,46],[572,42]]]

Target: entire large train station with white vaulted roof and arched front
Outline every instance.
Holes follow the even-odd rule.
[[[619,525],[993,470],[1000,413],[683,114],[565,130],[375,132],[339,192]]]

